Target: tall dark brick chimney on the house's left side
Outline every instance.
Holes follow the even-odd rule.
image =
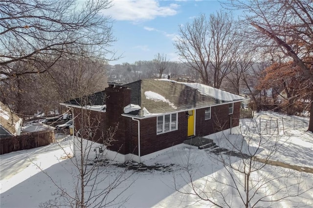
[[[110,126],[114,128],[118,124],[118,130],[114,136],[113,146],[109,149],[118,151],[121,154],[129,152],[129,123],[128,119],[121,114],[124,112],[124,107],[131,103],[131,89],[121,83],[109,83],[106,92],[106,119],[108,129]]]

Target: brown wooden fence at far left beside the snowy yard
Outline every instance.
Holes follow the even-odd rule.
[[[46,146],[55,141],[54,131],[38,131],[0,139],[0,154]]]

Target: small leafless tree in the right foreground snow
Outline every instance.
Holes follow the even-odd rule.
[[[229,208],[234,206],[234,202],[236,206],[246,208],[273,207],[277,202],[301,197],[312,190],[313,184],[306,184],[306,181],[302,180],[302,172],[289,169],[282,173],[275,168],[268,168],[270,159],[279,150],[283,141],[279,140],[276,133],[266,135],[265,129],[258,126],[259,124],[251,120],[246,126],[247,130],[236,139],[223,136],[223,144],[227,143],[230,149],[207,152],[208,160],[224,167],[223,172],[204,174],[204,177],[195,180],[199,170],[192,170],[193,159],[187,155],[186,166],[179,174],[187,187],[176,186],[176,190],[181,194],[191,195],[194,202],[201,201],[212,207]],[[259,158],[258,155],[264,149],[267,151],[266,154]],[[173,174],[175,181],[178,180],[176,175],[177,173]]]

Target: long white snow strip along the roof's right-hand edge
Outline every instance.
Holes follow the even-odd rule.
[[[216,98],[221,101],[237,101],[237,100],[246,100],[246,98],[232,94],[230,92],[226,92],[221,89],[216,89],[214,87],[201,84],[201,83],[183,83],[183,82],[176,82],[174,80],[169,80],[169,79],[158,79],[159,81],[167,81],[167,82],[174,82],[174,83],[180,83],[180,84],[185,84],[187,86],[190,86],[192,88],[197,89],[202,95],[208,95],[213,98]]]

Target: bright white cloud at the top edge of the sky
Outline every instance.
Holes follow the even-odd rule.
[[[104,13],[117,21],[138,22],[176,15],[178,7],[175,3],[160,6],[157,0],[114,0],[113,6]]]

